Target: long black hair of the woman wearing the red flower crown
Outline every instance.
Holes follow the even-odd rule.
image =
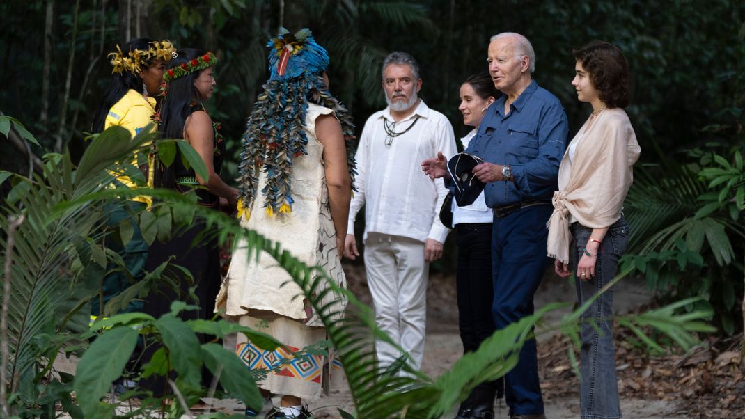
[[[184,48],[177,51],[178,57],[168,62],[168,69],[177,67],[181,63],[188,63],[197,57],[206,54],[206,51],[197,48]],[[168,71],[168,70],[166,70]],[[160,107],[160,125],[158,127],[160,138],[183,138],[184,124],[186,118],[194,111],[202,109],[199,91],[194,86],[194,80],[202,74],[202,71],[194,71],[186,76],[171,80],[166,86],[165,99]],[[155,170],[154,185],[158,188],[174,188],[176,184],[176,167],[181,164],[180,150],[176,149],[176,159],[169,167],[157,164]]]

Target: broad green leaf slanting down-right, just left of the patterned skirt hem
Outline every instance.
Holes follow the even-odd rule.
[[[208,343],[202,345],[204,363],[212,371],[212,374],[220,376],[220,383],[230,394],[238,396],[238,400],[246,403],[246,406],[259,412],[264,406],[264,397],[261,397],[259,388],[253,378],[248,374],[248,367],[235,356],[235,353],[226,351],[221,345]]]

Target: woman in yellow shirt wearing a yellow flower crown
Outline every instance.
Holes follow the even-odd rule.
[[[124,127],[134,137],[142,129],[153,122],[156,100],[154,95],[159,93],[163,80],[165,64],[171,60],[176,48],[168,41],[151,41],[150,39],[133,39],[124,45],[124,49],[116,46],[116,51],[109,54],[112,64],[112,80],[101,105],[93,117],[92,132],[102,132],[109,127]],[[151,126],[150,129],[155,129]],[[142,160],[142,159],[140,159]],[[133,156],[132,166],[138,166],[137,156]],[[140,167],[145,175],[145,182],[152,185],[150,165]],[[127,173],[115,173],[115,186],[121,188],[136,188],[138,185]],[[140,182],[142,184],[142,182]],[[145,272],[145,260],[148,258],[148,244],[142,238],[139,226],[130,217],[127,207],[135,212],[145,209],[150,204],[148,196],[137,196],[134,199],[116,202],[109,211],[109,226],[117,226],[124,219],[129,219],[134,231],[130,241],[121,246],[115,240],[110,240],[108,246],[119,253],[124,260],[129,275],[134,281],[141,280]],[[113,237],[113,235],[111,236]],[[110,270],[115,266],[110,266]],[[98,316],[104,310],[107,302],[118,295],[132,283],[127,273],[115,271],[104,278],[101,298],[93,301],[91,314]],[[124,311],[142,310],[142,301],[132,301]]]

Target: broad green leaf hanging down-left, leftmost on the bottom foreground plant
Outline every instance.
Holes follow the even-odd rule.
[[[75,370],[75,394],[86,418],[97,417],[98,404],[121,376],[137,343],[137,331],[115,327],[95,339]]]

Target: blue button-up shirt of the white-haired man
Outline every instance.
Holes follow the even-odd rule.
[[[514,182],[489,182],[484,188],[490,208],[517,202],[551,202],[568,136],[564,107],[533,80],[504,115],[500,97],[486,110],[478,135],[466,149],[485,161],[508,164]]]

